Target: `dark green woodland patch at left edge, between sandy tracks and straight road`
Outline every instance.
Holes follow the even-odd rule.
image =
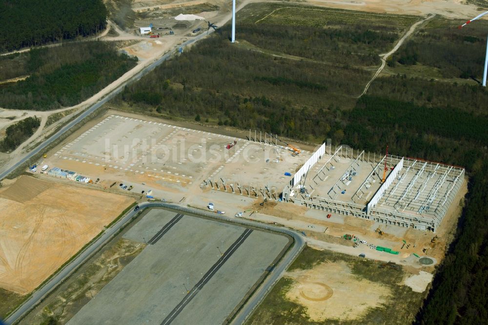
[[[30,77],[0,85],[2,107],[50,110],[75,105],[122,76],[137,61],[102,41],[36,48],[25,56],[23,71],[16,72]]]

